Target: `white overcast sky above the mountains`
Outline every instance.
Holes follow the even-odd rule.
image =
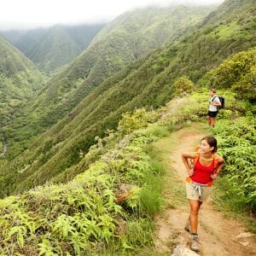
[[[2,0],[0,29],[107,22],[150,4],[219,4],[224,0]]]

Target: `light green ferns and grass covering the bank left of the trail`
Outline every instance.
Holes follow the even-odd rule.
[[[125,253],[150,244],[150,219],[160,210],[161,169],[151,163],[143,145],[160,134],[154,127],[122,134],[120,126],[106,146],[99,142],[91,148],[89,154],[95,148],[108,151],[71,183],[0,201],[1,253],[104,255],[106,250]],[[118,143],[108,148],[113,141]]]

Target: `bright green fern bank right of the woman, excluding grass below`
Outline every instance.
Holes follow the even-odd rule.
[[[256,189],[256,142],[255,118],[241,118],[236,122],[223,122],[217,133],[221,154],[226,164],[222,175],[229,177],[234,187],[239,186],[239,195],[246,197],[247,207],[256,212],[254,191]]]

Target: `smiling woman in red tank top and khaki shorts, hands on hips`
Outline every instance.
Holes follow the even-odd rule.
[[[215,137],[203,137],[198,152],[182,154],[183,163],[188,172],[186,191],[190,206],[185,230],[191,234],[191,249],[196,252],[200,250],[197,234],[198,212],[212,190],[212,181],[218,177],[224,166],[224,159],[215,154],[217,149]],[[192,164],[189,160],[192,160]]]

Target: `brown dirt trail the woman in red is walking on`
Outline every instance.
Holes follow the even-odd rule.
[[[195,144],[200,141],[201,137],[205,136],[200,129],[191,130],[190,128],[177,131],[176,135],[168,137],[156,143],[162,152],[163,163],[166,166],[166,183],[168,177],[177,173],[177,182],[183,183],[186,175],[186,170],[181,160],[181,153],[184,151],[193,150]],[[174,150],[173,148],[174,143]],[[166,146],[165,145],[172,145]],[[183,190],[184,191],[184,190]],[[166,201],[170,201],[168,189],[164,191]],[[185,196],[185,194],[184,194]],[[175,254],[174,247],[189,248],[189,233],[183,230],[184,224],[189,216],[189,205],[168,209],[161,213],[156,219],[155,247],[160,254],[163,255],[194,255],[194,252]],[[211,198],[208,199],[201,207],[199,216],[198,229],[201,252],[200,255],[207,256],[224,256],[224,255],[256,255],[256,241],[253,234],[234,220],[223,217],[221,212],[213,209]],[[239,237],[242,236],[242,237]],[[246,237],[243,237],[246,236]]]

